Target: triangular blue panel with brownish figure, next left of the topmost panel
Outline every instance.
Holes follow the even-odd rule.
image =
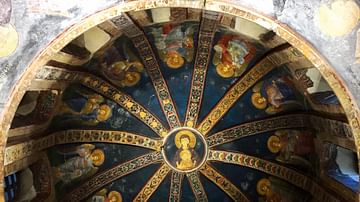
[[[120,36],[104,56],[94,59],[85,68],[131,95],[166,122],[149,75],[129,38]]]

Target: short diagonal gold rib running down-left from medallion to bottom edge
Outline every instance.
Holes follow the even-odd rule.
[[[136,195],[133,201],[148,201],[151,195],[153,195],[156,189],[160,186],[161,182],[164,181],[169,172],[170,167],[166,164],[163,164],[141,189],[141,191]]]

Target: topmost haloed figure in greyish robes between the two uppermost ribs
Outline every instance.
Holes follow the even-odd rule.
[[[155,38],[159,56],[168,67],[178,69],[183,66],[185,60],[193,60],[195,28],[192,25],[174,27],[166,24],[160,28],[153,28],[151,33]]]

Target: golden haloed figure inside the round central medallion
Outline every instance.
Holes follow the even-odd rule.
[[[194,150],[196,144],[195,135],[187,130],[179,131],[175,136],[175,145],[179,149],[176,152],[176,168],[189,170],[196,166],[197,154]]]

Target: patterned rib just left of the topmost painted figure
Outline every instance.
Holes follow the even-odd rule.
[[[179,115],[176,111],[176,106],[171,97],[165,78],[161,73],[154,51],[144,32],[136,26],[125,13],[120,17],[113,19],[112,22],[131,39],[135,48],[138,50],[170,128],[180,127],[181,124]]]

